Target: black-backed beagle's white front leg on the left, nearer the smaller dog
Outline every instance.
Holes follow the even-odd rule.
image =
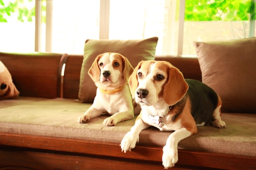
[[[121,141],[121,149],[122,152],[126,153],[128,150],[135,148],[136,142],[139,142],[139,133],[141,130],[148,128],[149,125],[145,124],[139,117],[136,119],[134,126],[132,126],[131,130],[126,133],[124,138]]]

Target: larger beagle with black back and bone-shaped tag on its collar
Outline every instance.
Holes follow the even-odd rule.
[[[184,79],[169,62],[140,62],[129,78],[129,85],[141,112],[121,141],[124,152],[135,148],[139,133],[149,126],[173,131],[163,147],[162,163],[168,169],[178,161],[179,141],[197,133],[196,126],[211,122],[216,128],[226,127],[220,117],[221,99],[213,89],[200,81]]]

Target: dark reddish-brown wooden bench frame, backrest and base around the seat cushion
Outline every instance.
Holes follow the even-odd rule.
[[[78,96],[82,55],[0,53],[0,60],[13,76],[21,97]],[[197,58],[158,56],[156,60],[171,62],[185,78],[202,78]],[[8,113],[0,110],[0,114]],[[0,170],[163,170],[162,147],[148,143],[124,153],[119,142],[0,132]],[[178,149],[178,154],[173,170],[256,168],[255,156],[188,149]]]

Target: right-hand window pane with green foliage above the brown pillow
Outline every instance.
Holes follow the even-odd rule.
[[[193,41],[254,37],[255,14],[252,0],[186,0],[183,54],[196,54]]]

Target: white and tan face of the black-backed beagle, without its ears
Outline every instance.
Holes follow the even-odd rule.
[[[136,102],[148,106],[156,104],[159,101],[159,97],[162,97],[162,86],[165,84],[167,76],[167,69],[163,64],[158,62],[141,64],[137,71],[139,85],[135,91]],[[138,96],[140,89],[147,90],[148,95],[140,98]]]

